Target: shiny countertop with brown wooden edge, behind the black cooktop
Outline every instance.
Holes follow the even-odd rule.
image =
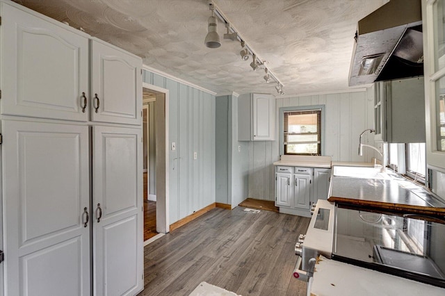
[[[445,215],[445,203],[400,176],[376,174],[373,178],[331,177],[330,202],[371,206],[404,213]]]

